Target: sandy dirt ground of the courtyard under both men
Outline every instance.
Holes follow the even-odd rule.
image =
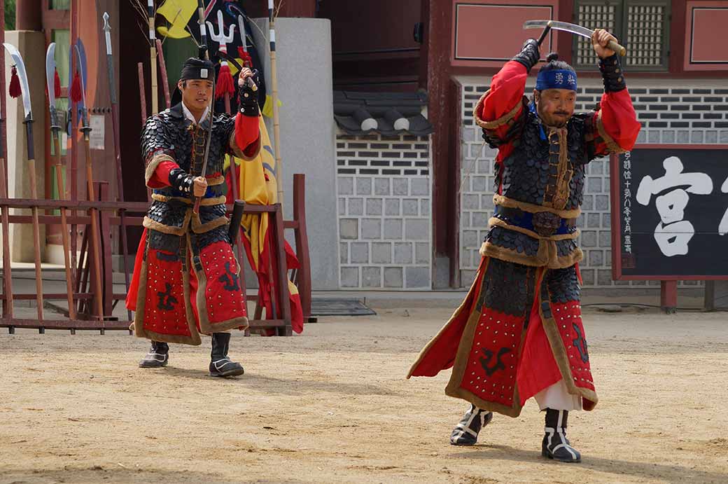
[[[209,340],[141,370],[129,335],[3,330],[0,483],[728,483],[725,313],[586,310],[601,401],[569,419],[582,464],[557,464],[534,402],[448,444],[449,371],[404,377],[449,312],[235,335],[234,380],[207,376]]]

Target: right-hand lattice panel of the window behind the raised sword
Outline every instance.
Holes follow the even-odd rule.
[[[666,5],[630,4],[627,7],[628,66],[662,66],[665,58]]]

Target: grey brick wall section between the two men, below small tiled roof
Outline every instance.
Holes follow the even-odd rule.
[[[336,136],[342,289],[430,289],[430,138]]]

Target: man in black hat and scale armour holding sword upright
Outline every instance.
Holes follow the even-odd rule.
[[[248,312],[228,235],[223,162],[225,155],[253,160],[260,151],[251,77],[250,69],[240,71],[239,113],[212,114],[215,67],[189,58],[177,85],[181,103],[150,117],[142,130],[145,181],[154,192],[127,294],[135,334],[151,340],[140,367],[164,367],[167,343],[199,345],[205,334],[212,337],[210,375],[244,371],[228,358],[228,331],[248,327]]]

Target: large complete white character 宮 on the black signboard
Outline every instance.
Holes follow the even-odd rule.
[[[695,227],[684,220],[685,207],[690,200],[688,193],[708,195],[713,191],[713,180],[705,173],[683,173],[684,166],[676,156],[666,158],[662,167],[665,168],[664,176],[657,179],[644,176],[636,198],[638,203],[646,206],[652,195],[658,195],[654,204],[661,220],[654,228],[654,240],[667,257],[685,255],[688,253],[687,244],[695,235]],[[659,195],[670,188],[674,190]]]

